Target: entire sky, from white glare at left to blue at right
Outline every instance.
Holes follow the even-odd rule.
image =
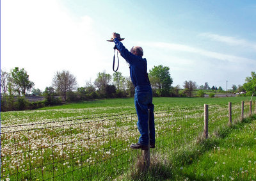
[[[172,86],[243,84],[256,71],[256,1],[2,0],[1,70],[24,68],[35,88],[57,71],[78,87],[113,74],[113,32],[143,48],[148,71],[170,68]],[[120,57],[120,56],[119,56]],[[120,57],[118,72],[129,76]],[[227,82],[228,81],[228,82]]]

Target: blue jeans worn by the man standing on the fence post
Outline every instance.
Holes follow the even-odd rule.
[[[134,104],[138,115],[138,130],[141,134],[139,143],[141,145],[154,144],[155,139],[155,118],[154,104],[152,104],[151,86],[136,86]],[[149,134],[148,134],[148,109],[150,110]],[[148,138],[149,135],[149,138]]]

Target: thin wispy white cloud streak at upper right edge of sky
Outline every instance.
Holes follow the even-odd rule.
[[[248,40],[239,39],[232,36],[216,35],[212,33],[201,33],[200,36],[205,36],[206,38],[210,38],[211,40],[227,43],[228,45],[232,46],[248,47],[256,51],[256,43],[249,42]]]

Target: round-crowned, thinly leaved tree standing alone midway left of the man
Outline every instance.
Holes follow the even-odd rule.
[[[63,70],[62,72],[57,71],[52,79],[52,86],[63,95],[64,101],[66,101],[67,92],[76,89],[76,77],[67,70]]]

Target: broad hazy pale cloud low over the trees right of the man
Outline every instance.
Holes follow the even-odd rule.
[[[179,43],[140,42],[147,52],[148,64],[170,67],[173,85],[182,85],[185,80],[196,81],[198,85],[208,82],[216,86],[225,86],[228,80],[232,84],[243,84],[244,77],[256,67],[256,60],[207,51]],[[149,55],[149,56],[148,56]],[[230,85],[228,84],[228,88]]]

